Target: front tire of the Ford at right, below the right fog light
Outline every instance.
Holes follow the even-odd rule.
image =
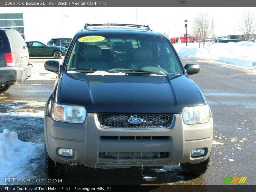
[[[180,168],[187,175],[202,175],[206,172],[210,164],[210,156],[201,163],[181,163]]]

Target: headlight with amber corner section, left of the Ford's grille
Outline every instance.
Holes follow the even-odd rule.
[[[68,123],[84,123],[86,110],[81,106],[53,104],[52,119]]]

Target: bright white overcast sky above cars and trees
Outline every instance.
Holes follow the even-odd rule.
[[[214,36],[236,35],[244,11],[250,10],[256,19],[256,8],[246,7],[25,7],[5,8],[0,13],[24,12],[26,40],[48,42],[53,37],[70,37],[87,23],[145,24],[169,37],[188,34],[198,13],[208,13],[213,20]],[[136,17],[137,12],[137,17]],[[212,33],[211,33],[212,36]]]

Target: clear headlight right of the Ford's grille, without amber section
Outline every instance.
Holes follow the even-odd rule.
[[[182,109],[182,118],[185,124],[198,124],[210,121],[210,108],[208,105],[199,105],[195,107],[184,107]]]

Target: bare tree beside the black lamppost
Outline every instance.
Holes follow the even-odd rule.
[[[198,17],[194,19],[192,34],[198,37],[199,48],[200,44],[203,45],[206,42],[206,39],[211,33],[210,21],[207,13],[200,13]]]

